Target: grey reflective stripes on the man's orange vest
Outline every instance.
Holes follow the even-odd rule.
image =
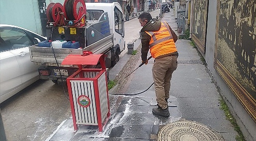
[[[168,25],[166,24],[166,22],[162,22],[162,23],[163,23],[163,25],[165,26],[165,28],[167,28],[167,31],[169,32],[170,36],[166,36],[166,37],[164,37],[164,38],[161,38],[161,39],[157,40],[155,33],[157,33],[158,31],[157,31],[157,32],[148,31],[147,33],[150,34],[150,36],[151,36],[151,38],[152,38],[152,40],[153,40],[153,42],[149,44],[149,48],[151,48],[151,47],[153,47],[154,45],[157,45],[158,43],[161,43],[161,42],[163,42],[163,41],[173,39],[173,35],[171,34],[171,31],[170,31]],[[161,28],[163,28],[163,27],[161,27]],[[161,29],[161,28],[160,28],[160,29]],[[162,30],[164,30],[164,29],[162,29]]]

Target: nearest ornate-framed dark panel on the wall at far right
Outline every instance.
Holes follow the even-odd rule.
[[[255,3],[218,0],[214,67],[256,122]]]

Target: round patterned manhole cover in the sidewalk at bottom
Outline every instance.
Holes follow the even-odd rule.
[[[223,139],[200,123],[177,121],[161,128],[158,141],[223,141]]]

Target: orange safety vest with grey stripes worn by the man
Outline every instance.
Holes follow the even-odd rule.
[[[177,51],[173,35],[166,22],[161,22],[161,27],[158,31],[145,32],[151,36],[149,48],[153,58]]]

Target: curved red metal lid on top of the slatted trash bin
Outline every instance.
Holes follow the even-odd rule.
[[[99,60],[103,60],[103,54],[69,54],[61,65],[97,65]]]

